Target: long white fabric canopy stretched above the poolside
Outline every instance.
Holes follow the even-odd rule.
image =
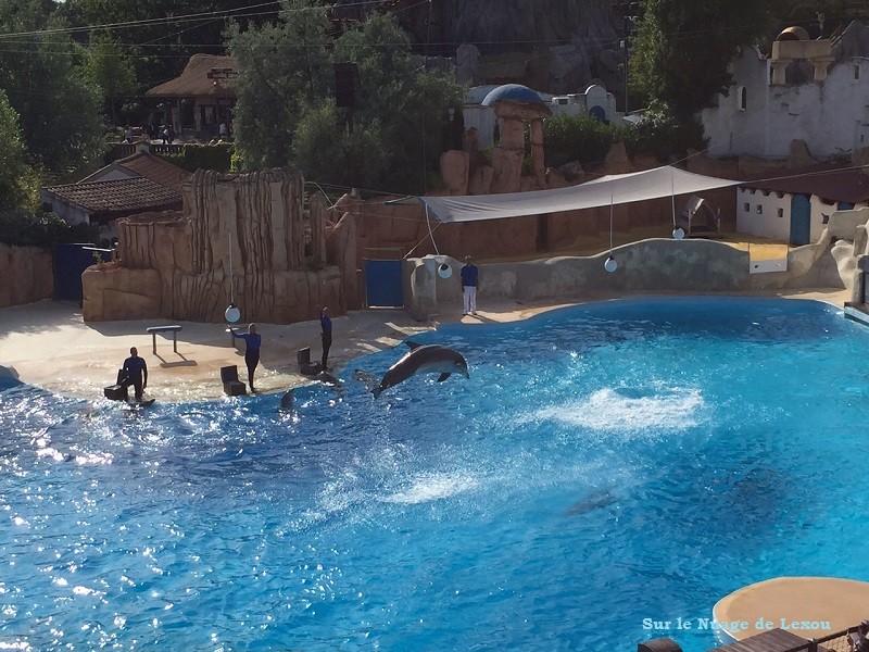
[[[542,215],[689,195],[739,186],[744,181],[719,179],[664,165],[645,172],[616,174],[555,190],[417,198],[440,222],[476,222],[521,215]]]

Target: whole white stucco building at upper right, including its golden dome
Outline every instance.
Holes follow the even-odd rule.
[[[869,27],[852,23],[830,39],[789,28],[770,57],[745,48],[733,60],[735,84],[702,121],[710,156],[788,158],[804,140],[818,159],[869,146]],[[869,48],[867,48],[869,50]]]

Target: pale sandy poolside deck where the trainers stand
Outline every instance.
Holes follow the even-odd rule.
[[[827,301],[837,308],[849,300],[846,290],[779,290],[753,296],[793,297]],[[614,299],[593,297],[587,301]],[[515,322],[547,310],[575,305],[572,299],[558,302],[479,301],[479,314],[462,316],[461,306],[433,315],[428,323],[415,322],[402,310],[364,310],[332,318],[333,342],[329,355],[332,372],[341,375],[355,358],[390,349],[406,337],[437,328],[439,324],[468,325]],[[156,354],[148,326],[177,323],[178,352],[173,351],[172,335],[156,336]],[[242,330],[247,324],[243,324]],[[256,372],[261,392],[286,391],[311,383],[299,373],[297,351],[311,347],[312,360],[319,360],[319,322],[277,325],[259,324],[263,336],[262,359]],[[168,336],[168,337],[167,337]],[[52,392],[101,398],[103,387],[113,385],[117,369],[137,347],[148,363],[150,397],[162,401],[193,401],[223,397],[221,367],[236,364],[239,377],[247,380],[244,344],[230,343],[226,326],[138,319],[85,323],[76,304],[41,301],[0,309],[0,375],[11,375],[28,385]],[[404,354],[396,352],[395,359]],[[383,369],[386,371],[386,369]]]

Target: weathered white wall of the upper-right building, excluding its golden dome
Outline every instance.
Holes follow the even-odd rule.
[[[772,86],[769,60],[756,48],[745,48],[731,71],[736,84],[730,95],[719,96],[718,106],[701,115],[709,155],[786,159],[792,140],[805,140],[816,158],[869,146],[869,60],[835,63],[824,82]],[[744,111],[739,109],[741,86],[746,91]]]

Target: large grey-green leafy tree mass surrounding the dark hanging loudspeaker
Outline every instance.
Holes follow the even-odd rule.
[[[236,138],[247,168],[293,163],[323,184],[421,192],[437,170],[448,108],[462,89],[426,68],[387,15],[327,47],[326,10],[286,0],[276,25],[232,35]],[[337,106],[333,64],[358,71],[355,106]]]

